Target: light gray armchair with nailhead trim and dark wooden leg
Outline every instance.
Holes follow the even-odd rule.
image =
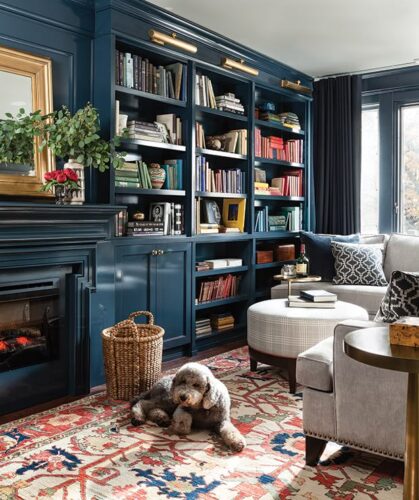
[[[377,323],[340,323],[333,337],[297,359],[307,465],[319,461],[328,441],[403,460],[407,374],[367,366],[343,351],[347,333],[371,326]]]

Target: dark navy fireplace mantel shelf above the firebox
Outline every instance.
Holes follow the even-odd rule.
[[[111,205],[1,203],[0,245],[108,239],[121,209]]]

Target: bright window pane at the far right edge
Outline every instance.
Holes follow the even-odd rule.
[[[419,235],[419,104],[400,107],[399,228]]]

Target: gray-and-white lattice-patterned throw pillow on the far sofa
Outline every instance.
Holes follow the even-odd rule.
[[[351,245],[332,241],[335,285],[385,286],[383,250],[379,245]]]

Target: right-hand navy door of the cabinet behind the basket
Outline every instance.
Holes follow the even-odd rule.
[[[158,245],[153,313],[165,329],[164,346],[172,348],[190,342],[191,245]]]

